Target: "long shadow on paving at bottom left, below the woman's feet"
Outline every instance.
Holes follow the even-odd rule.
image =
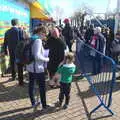
[[[31,112],[24,114],[23,111],[30,110],[30,109],[32,109]],[[36,110],[31,107],[26,107],[26,108],[2,112],[0,113],[0,118],[1,118],[0,120],[34,120],[35,118],[38,118],[45,114],[55,113],[55,112],[58,112],[59,110],[61,109],[56,109],[55,107],[51,107],[46,111]],[[10,114],[13,114],[13,115],[9,116]],[[4,117],[4,116],[7,116],[7,117]]]

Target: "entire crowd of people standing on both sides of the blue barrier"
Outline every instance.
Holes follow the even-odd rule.
[[[19,27],[18,19],[12,19],[12,27],[5,33],[4,52],[10,56],[12,80],[16,80],[17,66],[19,85],[23,86],[23,71],[28,71],[29,96],[32,107],[38,104],[34,98],[36,80],[39,85],[42,108],[47,109],[50,107],[46,101],[46,75],[49,78],[51,88],[60,87],[56,107],[61,107],[64,96],[66,99],[63,108],[68,107],[72,75],[76,70],[74,53],[72,52],[74,40],[83,40],[103,54],[112,56],[118,62],[117,58],[120,53],[119,32],[114,39],[114,33],[108,28],[94,28],[93,25],[90,25],[81,31],[79,27],[72,28],[69,19],[65,19],[64,24],[64,28],[53,24],[47,26],[40,24],[32,30],[32,33],[29,33]],[[90,54],[95,56],[94,51],[91,51]],[[22,58],[19,58],[20,55]],[[25,56],[29,58],[29,64],[26,62],[28,58],[25,59]],[[94,63],[98,57],[94,57]],[[97,66],[99,68],[99,65]]]

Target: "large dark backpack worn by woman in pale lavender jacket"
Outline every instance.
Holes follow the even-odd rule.
[[[16,63],[28,65],[34,61],[32,54],[32,45],[35,40],[21,40],[18,42],[15,50]]]

